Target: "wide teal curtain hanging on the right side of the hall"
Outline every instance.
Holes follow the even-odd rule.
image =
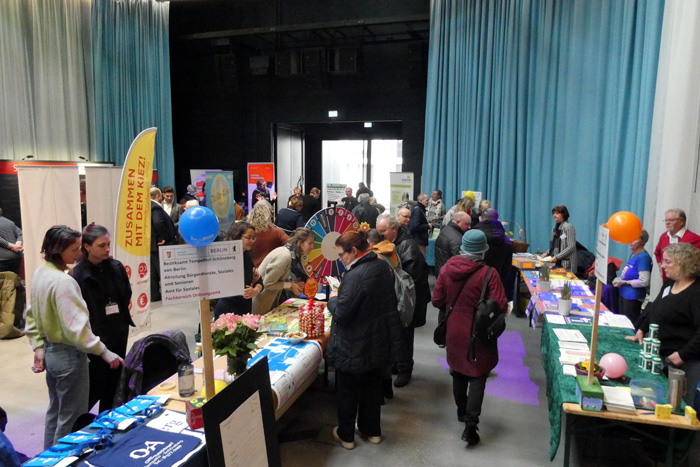
[[[433,0],[422,191],[482,191],[546,249],[644,214],[663,0]],[[517,233],[516,233],[517,236]],[[611,256],[626,258],[617,245]]]

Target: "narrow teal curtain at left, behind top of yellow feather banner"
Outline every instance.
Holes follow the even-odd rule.
[[[124,163],[142,130],[158,128],[158,185],[175,185],[168,2],[92,0],[97,160]]]

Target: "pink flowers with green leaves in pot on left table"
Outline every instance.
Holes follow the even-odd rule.
[[[258,346],[255,341],[260,315],[226,313],[211,324],[212,348],[217,355],[225,355],[229,374],[239,376],[246,370],[250,353]]]

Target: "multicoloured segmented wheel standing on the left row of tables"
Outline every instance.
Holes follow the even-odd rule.
[[[306,227],[314,232],[314,249],[302,258],[304,270],[309,277],[327,284],[326,277],[340,277],[345,265],[340,261],[335,241],[347,231],[357,230],[360,223],[344,208],[326,208],[313,215]]]

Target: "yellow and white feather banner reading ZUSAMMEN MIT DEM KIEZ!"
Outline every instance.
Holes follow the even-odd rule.
[[[131,143],[124,161],[117,201],[114,257],[126,268],[131,283],[129,310],[136,324],[132,334],[151,327],[151,180],[156,128],[143,130]]]

